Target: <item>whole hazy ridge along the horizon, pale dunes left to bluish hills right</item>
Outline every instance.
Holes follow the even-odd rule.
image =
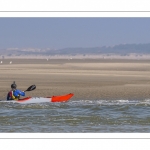
[[[148,44],[119,44],[103,47],[76,47],[64,49],[38,49],[38,48],[7,48],[0,49],[1,56],[30,56],[30,55],[101,55],[117,54],[128,55],[130,53],[150,54],[150,43]]]

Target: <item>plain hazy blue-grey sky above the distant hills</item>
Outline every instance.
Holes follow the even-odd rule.
[[[150,18],[0,18],[0,48],[150,43]]]

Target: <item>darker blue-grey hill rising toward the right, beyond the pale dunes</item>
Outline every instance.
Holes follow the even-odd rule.
[[[92,48],[65,48],[58,50],[59,54],[120,54],[129,53],[150,54],[149,44],[120,44]]]

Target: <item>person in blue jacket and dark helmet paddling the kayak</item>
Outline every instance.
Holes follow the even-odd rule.
[[[20,96],[25,96],[25,92],[16,89],[17,85],[14,83],[11,85],[11,91],[7,94],[7,100],[19,100]]]

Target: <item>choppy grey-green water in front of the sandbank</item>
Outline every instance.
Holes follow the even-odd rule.
[[[65,103],[0,102],[0,132],[150,132],[150,100],[70,100]]]

